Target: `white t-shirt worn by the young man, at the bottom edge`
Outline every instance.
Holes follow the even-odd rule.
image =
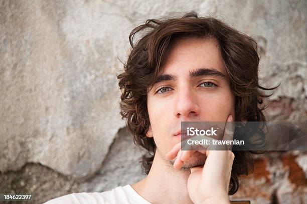
[[[44,204],[150,204],[140,196],[131,185],[118,186],[104,192],[78,192],[63,195],[45,202]]]

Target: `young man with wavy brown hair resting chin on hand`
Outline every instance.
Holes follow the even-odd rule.
[[[132,50],[118,75],[121,114],[134,142],[148,151],[142,157],[148,175],[47,203],[230,203],[238,176],[252,168],[250,152],[181,150],[181,122],[265,121],[257,43],[195,12],[147,20],[129,39]]]

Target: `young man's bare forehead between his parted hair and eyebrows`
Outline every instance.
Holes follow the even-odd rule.
[[[227,75],[217,40],[196,37],[176,40],[161,73],[188,75],[197,68],[213,68]]]

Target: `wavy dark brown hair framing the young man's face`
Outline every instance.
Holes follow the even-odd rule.
[[[139,40],[136,35],[142,34]],[[258,84],[258,64],[256,41],[213,17],[199,17],[196,12],[188,12],[182,17],[148,19],[135,27],[129,41],[132,47],[124,71],[118,74],[121,89],[121,115],[126,118],[126,126],[133,135],[135,144],[146,149],[142,156],[142,167],[148,174],[155,156],[156,144],[147,137],[150,122],[147,112],[147,90],[152,87],[170,53],[174,41],[180,37],[200,37],[216,39],[224,60],[230,88],[235,95],[235,121],[265,121],[262,104],[264,88]],[[135,42],[134,42],[135,41]],[[253,169],[251,153],[254,151],[233,151],[233,161],[228,194],[234,194],[239,187],[238,176],[248,174]]]

